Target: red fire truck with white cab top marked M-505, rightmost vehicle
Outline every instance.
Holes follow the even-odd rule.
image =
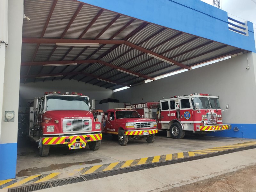
[[[159,102],[147,102],[125,105],[136,109],[141,116],[157,121],[158,130],[167,130],[167,136],[182,139],[186,131],[198,136],[209,132],[231,129],[230,124],[222,124],[222,111],[219,96],[194,93],[190,95],[173,96]]]

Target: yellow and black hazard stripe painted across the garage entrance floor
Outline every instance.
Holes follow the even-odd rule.
[[[72,176],[86,175],[86,174],[91,174],[95,172],[104,172],[104,171],[109,171],[109,170],[114,170],[119,168],[131,167],[135,165],[157,163],[157,162],[169,161],[172,159],[180,159],[184,157],[210,154],[210,153],[215,153],[219,151],[225,151],[225,150],[248,147],[248,146],[256,146],[256,141],[248,141],[244,143],[237,143],[237,144],[226,145],[221,147],[213,147],[213,148],[173,153],[173,154],[167,154],[167,155],[144,157],[140,159],[131,159],[127,161],[114,162],[110,164],[94,165],[90,167],[70,170],[68,174],[66,172],[62,172],[62,173],[54,172],[49,174],[33,175],[33,176],[18,178],[18,179],[0,180],[0,189],[18,187],[21,185],[45,182],[49,180],[55,180],[60,178],[72,177]]]

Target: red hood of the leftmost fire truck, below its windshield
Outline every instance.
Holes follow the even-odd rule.
[[[93,118],[91,111],[75,111],[75,110],[60,110],[60,111],[46,111],[44,114],[47,118]]]

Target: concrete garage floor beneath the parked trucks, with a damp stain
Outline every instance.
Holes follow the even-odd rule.
[[[182,140],[166,137],[160,132],[152,144],[145,140],[129,141],[127,146],[120,146],[111,135],[104,135],[98,151],[85,149],[69,150],[67,147],[52,147],[49,156],[40,157],[36,143],[21,141],[18,144],[16,176],[24,177],[35,174],[62,172],[89,167],[97,164],[108,164],[142,157],[166,155],[204,148],[235,144],[248,139],[203,137],[187,135]]]

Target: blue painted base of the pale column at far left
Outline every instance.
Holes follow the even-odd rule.
[[[16,175],[17,143],[0,144],[0,180]]]

